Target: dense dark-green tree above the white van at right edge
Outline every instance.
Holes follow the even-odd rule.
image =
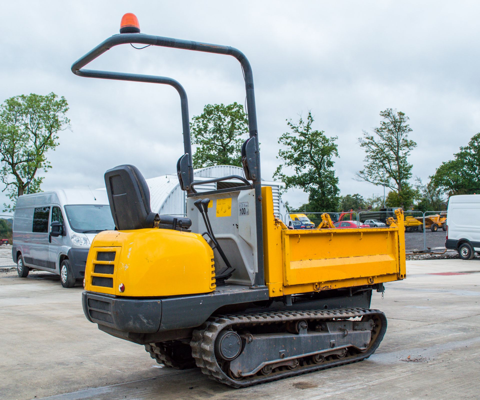
[[[454,159],[443,162],[432,176],[432,184],[454,194],[480,192],[480,133],[474,135],[467,146],[461,146]]]

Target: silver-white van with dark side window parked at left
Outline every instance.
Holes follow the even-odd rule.
[[[63,287],[83,279],[98,232],[115,229],[106,190],[55,190],[19,196],[12,258],[20,277],[30,270],[60,275]]]

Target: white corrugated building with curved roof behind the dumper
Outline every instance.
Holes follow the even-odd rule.
[[[243,169],[233,165],[214,165],[194,171],[195,180],[208,180],[229,175],[243,176]],[[183,215],[186,213],[186,192],[180,189],[179,180],[176,174],[167,174],[157,176],[156,178],[146,179],[148,188],[150,189],[150,205],[153,212],[160,215]],[[205,185],[197,185],[195,189],[198,192],[206,192],[222,188],[231,188],[235,186],[243,186],[244,184],[238,179],[231,179],[222,182],[208,183]],[[280,198],[280,187],[284,186],[283,182],[265,181],[262,186],[271,186],[273,192],[274,211],[276,215],[283,218],[287,212],[284,202]]]

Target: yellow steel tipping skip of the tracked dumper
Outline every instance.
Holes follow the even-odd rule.
[[[271,297],[406,277],[401,210],[388,228],[290,230],[274,217],[272,189],[264,187],[262,211],[265,284]]]

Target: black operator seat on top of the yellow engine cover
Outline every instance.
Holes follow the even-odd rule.
[[[153,228],[188,229],[188,218],[159,216],[150,208],[150,190],[145,178],[133,165],[119,165],[105,173],[108,202],[119,231]],[[182,229],[183,228],[183,229]]]

